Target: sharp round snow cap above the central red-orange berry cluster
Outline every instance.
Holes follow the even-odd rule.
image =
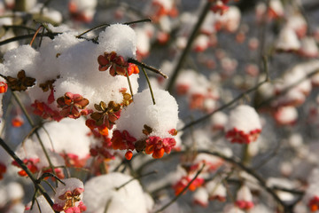
[[[128,130],[134,138],[144,138],[144,124],[152,128],[151,136],[173,138],[168,130],[176,129],[178,106],[168,91],[153,91],[156,104],[152,103],[150,90],[144,90],[134,96],[134,102],[121,112],[116,122],[117,130]]]

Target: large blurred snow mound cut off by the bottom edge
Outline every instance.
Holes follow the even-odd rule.
[[[113,213],[146,213],[147,205],[144,192],[137,180],[119,187],[132,179],[122,173],[109,173],[93,177],[84,185],[83,202],[87,213],[103,213],[106,204],[108,212]]]

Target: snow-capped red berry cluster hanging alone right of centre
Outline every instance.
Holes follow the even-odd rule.
[[[240,105],[230,112],[225,127],[226,138],[232,143],[249,144],[261,133],[261,121],[252,106]]]

